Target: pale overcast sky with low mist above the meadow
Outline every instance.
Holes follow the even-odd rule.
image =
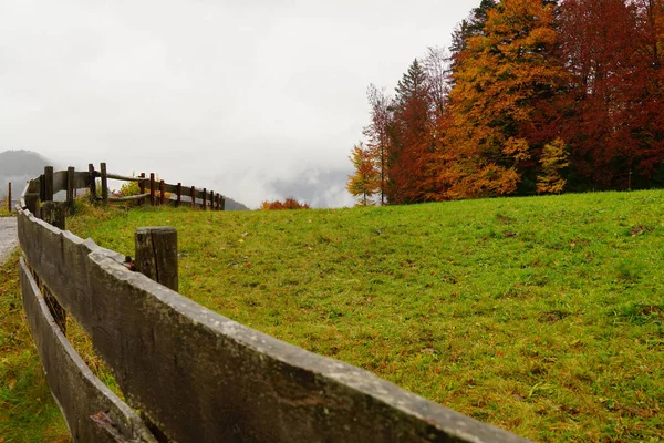
[[[155,172],[250,207],[352,206],[390,91],[479,0],[0,0],[0,152]]]

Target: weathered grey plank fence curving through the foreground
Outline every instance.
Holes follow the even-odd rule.
[[[91,177],[92,172],[74,173],[74,186]],[[39,188],[35,182],[17,208],[23,305],[51,391],[75,441],[523,441],[355,367],[239,324],[128,269],[120,254],[64,230],[51,203],[28,209]],[[60,228],[35,217],[40,212]],[[147,258],[137,251],[138,270],[177,257],[173,245],[144,247],[162,234],[176,235],[172,228],[137,233],[137,249],[148,251]],[[156,274],[177,288],[173,272]],[[65,312],[91,337],[126,403],[68,343]]]

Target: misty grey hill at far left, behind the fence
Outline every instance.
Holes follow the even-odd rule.
[[[42,174],[49,159],[31,151],[4,151],[0,153],[0,198],[7,195],[8,183],[12,184],[13,197],[18,196],[30,178]]]

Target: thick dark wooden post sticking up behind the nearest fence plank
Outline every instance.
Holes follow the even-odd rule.
[[[177,230],[170,226],[138,228],[135,247],[136,270],[177,291]]]

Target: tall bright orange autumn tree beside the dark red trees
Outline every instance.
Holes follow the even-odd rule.
[[[437,153],[440,198],[535,192],[541,150],[554,138],[546,110],[566,73],[554,54],[553,4],[505,0],[486,14],[453,70],[450,124]]]

